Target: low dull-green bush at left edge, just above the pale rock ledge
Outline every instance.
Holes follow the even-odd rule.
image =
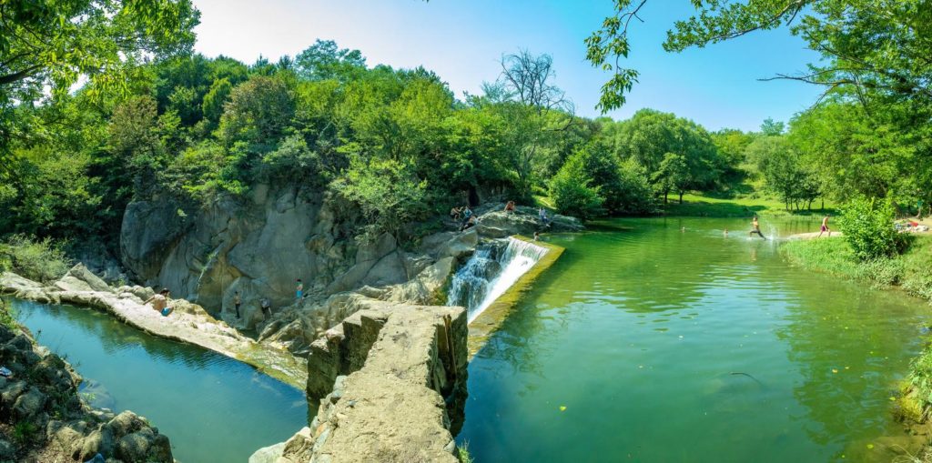
[[[61,278],[69,266],[71,263],[62,248],[48,238],[36,241],[24,235],[14,235],[0,241],[0,271],[48,282]]]

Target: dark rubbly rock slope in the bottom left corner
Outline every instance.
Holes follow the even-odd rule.
[[[0,301],[0,311],[3,302]],[[81,402],[81,378],[19,327],[0,325],[0,460],[171,463],[169,439],[132,412]]]

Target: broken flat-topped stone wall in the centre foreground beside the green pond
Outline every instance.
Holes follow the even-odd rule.
[[[308,358],[309,428],[252,463],[456,462],[466,398],[466,311],[361,302]]]

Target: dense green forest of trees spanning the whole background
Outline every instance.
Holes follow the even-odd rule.
[[[863,18],[834,20],[870,25],[870,5],[850,8]],[[0,12],[15,19],[0,30],[0,236],[112,246],[131,201],[172,201],[183,215],[259,183],[345,197],[372,231],[504,199],[583,218],[660,213],[686,192],[774,197],[788,210],[819,198],[891,197],[906,209],[929,199],[932,105],[911,57],[873,75],[852,67],[788,124],[709,131],[651,109],[623,121],[576,116],[545,54],[506,54],[481,94],[455,95],[430,70],[371,65],[329,40],[276,62],[195,54],[198,12],[184,0]],[[678,25],[671,43],[701,45],[700,26]],[[908,50],[929,40],[880,33]],[[587,41],[596,52],[597,38]],[[610,54],[593,53],[603,63]],[[836,61],[857,61],[845,57]],[[917,75],[898,84],[890,66],[912,64]],[[615,103],[622,93],[607,90]]]

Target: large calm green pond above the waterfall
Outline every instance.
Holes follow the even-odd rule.
[[[747,222],[550,237],[567,251],[470,364],[459,443],[479,462],[821,462],[897,433],[928,307],[788,266]]]

